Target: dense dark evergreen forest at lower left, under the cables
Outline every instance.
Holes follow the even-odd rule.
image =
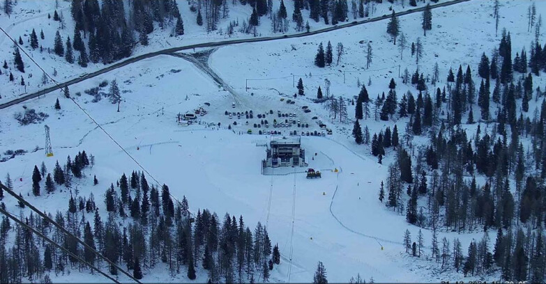
[[[132,270],[135,278],[143,278],[143,271],[164,265],[171,277],[185,274],[193,280],[197,277],[195,267],[202,267],[213,283],[267,282],[273,265],[280,263],[279,247],[269,239],[266,226],[257,223],[251,230],[243,216],[225,214],[220,218],[206,209],[192,214],[185,196],[181,202],[173,201],[167,185],[150,185],[144,173],[133,171],[130,177],[123,174],[109,186],[95,176],[95,187],[107,187],[103,206],[92,192],[82,196],[73,179],[82,179],[83,171],[94,164],[93,155],[88,157],[83,151],[74,160],[68,157],[62,167],[57,161],[52,173],[45,164],[35,166],[32,192],[35,196],[70,194],[66,211],[46,214],[108,260]],[[5,182],[6,187],[13,188],[9,174]],[[45,184],[45,192],[40,191],[40,184]],[[2,202],[1,207],[5,210],[6,205]],[[23,221],[91,265],[119,274],[116,267],[40,216],[31,212]],[[1,283],[43,281],[49,278],[47,274],[66,274],[70,269],[89,271],[73,256],[5,216],[0,222],[0,234]],[[8,239],[15,240],[13,245]]]

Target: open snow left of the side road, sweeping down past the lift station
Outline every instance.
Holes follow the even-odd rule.
[[[181,72],[172,73],[169,71],[172,69]],[[303,147],[309,166],[338,168],[339,173],[323,171],[323,178],[312,180],[306,179],[305,173],[261,175],[265,148],[257,147],[256,143],[264,141],[266,136],[237,135],[225,126],[213,129],[204,125],[181,127],[176,124],[176,113],[195,109],[202,102],[211,104],[209,113],[202,117],[203,122],[222,125],[229,122],[224,110],[231,108],[231,95],[218,90],[190,63],[172,56],[159,56],[78,84],[70,92],[74,95],[98,85],[103,79],[114,78],[120,82],[122,92],[129,91],[123,94],[126,102],[122,102],[120,113],[107,99],[92,103],[91,96],[84,93],[81,97],[76,96],[77,102],[153,178],[168,184],[177,198],[185,195],[190,200],[192,212],[210,208],[219,214],[242,214],[247,223],[261,221],[266,224],[272,241],[279,244],[282,254],[281,265],[275,267],[271,281],[285,282],[290,277],[291,282],[307,282],[312,279],[319,260],[328,269],[330,281],[348,281],[347,276],[350,278],[357,273],[366,279],[373,277],[376,281],[390,282],[443,279],[431,278],[431,274],[421,271],[413,273],[412,267],[419,262],[401,256],[404,251],[401,236],[405,228],[410,228],[414,236],[418,228],[408,226],[402,216],[386,210],[377,200],[386,167],[377,164],[375,159],[357,156],[332,139],[305,136]],[[123,83],[127,80],[131,83]],[[194,93],[199,96],[192,95]],[[185,100],[186,95],[189,100]],[[251,97],[246,98],[251,100]],[[97,202],[102,202],[103,192],[121,173],[139,169],[73,102],[63,99],[62,95],[59,100],[61,111],[54,111],[53,96],[24,104],[36,111],[50,113],[45,123],[51,127],[54,157],[46,158],[43,149],[32,152],[36,145],[42,147],[44,143],[43,124],[20,127],[10,118],[22,110],[20,106],[6,109],[4,117],[10,119],[1,121],[3,133],[10,135],[1,136],[0,152],[22,148],[29,153],[2,163],[0,176],[9,172],[15,179],[15,191],[21,192],[40,210],[47,211],[66,207],[70,194],[65,190],[33,197],[29,177],[34,164],[45,161],[51,169],[56,159],[62,162],[67,155],[73,157],[79,150],[95,155],[96,166],[85,172],[87,179],[75,180],[75,188],[82,196],[93,192]],[[252,102],[264,111],[271,107],[267,101],[260,106],[262,100],[258,97]],[[285,107],[283,111],[289,109]],[[333,139],[336,138],[334,134]],[[317,164],[311,159],[314,152],[317,152]],[[94,187],[93,175],[97,175],[100,182]],[[271,207],[268,210],[270,191]],[[12,198],[6,198],[6,205],[9,212],[20,210]],[[101,213],[106,214],[104,208]],[[86,214],[86,219],[91,218],[91,214]],[[429,235],[425,232],[425,244],[430,242]],[[459,237],[465,245],[473,236],[480,234]],[[289,255],[292,255],[291,267]],[[422,262],[420,265],[428,265],[426,260]],[[146,273],[143,281],[184,280],[182,274],[177,276],[181,278],[172,279],[160,271],[161,266],[156,267]],[[198,270],[198,276],[197,280],[206,281],[206,271]],[[76,272],[70,276],[51,277],[61,282],[102,280],[99,276],[89,278],[85,273]]]

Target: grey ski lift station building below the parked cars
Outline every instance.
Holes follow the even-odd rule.
[[[267,157],[262,167],[307,166],[305,149],[301,148],[301,136],[273,136],[266,149]]]

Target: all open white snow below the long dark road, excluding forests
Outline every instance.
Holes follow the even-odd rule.
[[[501,10],[505,17],[503,22],[513,31],[513,38],[522,38],[521,45],[514,44],[515,49],[521,49],[533,37],[523,31],[525,27],[514,24],[524,19],[528,5],[527,1],[508,1]],[[537,5],[544,8],[544,2],[539,1]],[[432,67],[433,63],[430,62],[438,61],[441,65],[442,81],[445,81],[449,66],[455,69],[459,64],[471,64],[475,68],[480,56],[477,51],[483,47],[478,48],[475,45],[473,36],[480,31],[466,29],[487,24],[489,30],[483,36],[480,35],[484,39],[480,45],[487,49],[497,45],[498,38],[494,37],[494,24],[491,24],[493,19],[487,12],[489,6],[490,3],[478,0],[434,12],[434,29],[427,38],[421,37],[426,40],[425,56],[421,64]],[[460,21],[453,19],[453,14],[464,13],[469,15],[467,24],[464,28],[455,29]],[[416,31],[408,38],[409,42],[414,41],[416,34],[420,32],[419,20],[420,14],[402,18],[405,31]],[[320,104],[309,100],[315,97],[319,84],[324,86],[325,78],[331,80],[331,91],[336,96],[347,98],[358,94],[357,77],[363,83],[371,77],[372,85],[368,92],[372,97],[386,90],[391,77],[397,81],[397,92],[400,95],[412,88],[401,83],[397,78],[397,67],[393,69],[392,66],[401,64],[413,72],[415,66],[411,67],[411,62],[414,58],[410,56],[409,50],[404,52],[404,61],[397,58],[399,51],[389,42],[384,33],[385,27],[386,21],[383,21],[313,38],[281,41],[278,45],[266,42],[222,47],[208,59],[208,66],[222,78],[224,84],[232,87],[231,92],[196,65],[183,58],[165,55],[146,59],[71,86],[70,94],[89,116],[72,101],[64,98],[61,92],[47,95],[45,99],[34,99],[10,107],[3,110],[0,120],[0,152],[17,149],[28,152],[0,163],[0,177],[10,173],[15,192],[22,193],[26,200],[40,210],[53,212],[68,205],[70,194],[63,189],[51,195],[32,196],[30,177],[33,166],[45,161],[47,168],[52,169],[56,159],[62,162],[67,155],[73,156],[79,150],[86,150],[96,157],[96,164],[84,172],[87,178],[75,180],[73,187],[84,196],[93,192],[97,203],[102,203],[104,191],[111,182],[115,183],[121,173],[141,169],[126,155],[123,151],[125,150],[146,168],[153,179],[161,184],[168,184],[173,196],[186,196],[192,212],[209,208],[220,214],[229,212],[235,216],[243,215],[246,223],[260,221],[266,224],[271,239],[280,247],[282,257],[281,264],[272,271],[270,282],[309,282],[318,261],[324,262],[328,281],[331,283],[347,282],[356,274],[360,274],[366,281],[373,278],[376,282],[391,283],[498,280],[498,274],[485,278],[464,278],[462,274],[451,269],[440,274],[439,265],[428,256],[432,237],[430,230],[423,229],[425,248],[422,258],[411,258],[404,253],[404,231],[408,229],[412,239],[415,239],[419,228],[411,226],[404,216],[389,210],[377,198],[379,185],[381,181],[386,182],[388,164],[395,161],[395,154],[389,152],[383,164],[378,164],[366,146],[356,145],[351,139],[351,123],[332,122],[328,118],[328,112]],[[457,37],[455,40],[458,39],[459,42],[457,49],[442,45],[441,38],[454,34]],[[374,48],[377,48],[370,70],[381,69],[381,72],[361,69],[365,59],[363,45],[358,41],[363,38],[372,40]],[[318,42],[326,44],[328,40],[333,45],[337,42],[345,45],[346,54],[342,57],[340,66],[349,68],[352,65],[354,69],[351,71],[360,70],[348,72],[346,83],[343,83],[340,66],[318,69],[312,65]],[[307,45],[303,45],[305,42]],[[290,52],[293,45],[297,54]],[[438,58],[434,55],[434,46],[442,48],[443,53]],[[290,73],[312,73],[310,77],[303,77],[306,97],[291,97],[296,88],[292,86]],[[337,74],[329,77],[318,76],[321,73]],[[250,88],[245,90],[245,79],[269,77],[286,78],[276,83],[252,81]],[[113,79],[117,80],[123,97],[119,113],[116,112],[116,105],[108,102],[107,98],[93,103],[93,97],[84,93],[84,90],[96,87],[104,80],[111,84]],[[543,85],[544,81],[536,82],[536,86]],[[103,91],[107,92],[107,88]],[[59,97],[61,103],[60,111],[53,107],[56,97]],[[296,103],[286,104],[281,98],[291,98]],[[232,107],[234,102],[235,108]],[[23,106],[48,113],[49,117],[44,123],[20,126],[13,116],[23,111]],[[308,106],[312,111],[304,113],[301,109],[303,106]],[[205,116],[198,117],[199,123],[181,126],[176,122],[179,113],[192,112],[199,107],[208,111]],[[354,108],[350,105],[348,107],[351,118],[354,116]],[[534,104],[531,105],[530,113],[535,107]],[[230,119],[225,115],[225,111],[248,110],[254,111],[254,118]],[[270,110],[273,111],[272,115]],[[261,160],[266,155],[266,148],[261,144],[271,139],[271,135],[256,134],[259,129],[252,125],[259,123],[257,113],[267,113],[266,119],[271,123],[277,118],[278,111],[296,113],[295,119],[310,125],[305,130],[293,127],[298,133],[319,130],[312,116],[317,116],[318,120],[334,129],[331,136],[302,136],[308,167],[331,171],[322,171],[320,179],[307,179],[305,173],[294,173],[305,171],[307,167],[275,169],[277,175],[261,174]],[[249,125],[245,125],[247,120]],[[234,121],[238,125],[233,125]],[[372,133],[379,132],[379,129],[387,125],[376,122],[373,118],[368,118],[364,123],[367,123]],[[45,157],[44,124],[51,129],[54,157]],[[232,129],[228,129],[229,124]],[[388,125],[392,124],[393,122],[388,122]],[[398,126],[402,129],[403,125],[405,122],[400,122]],[[247,134],[248,129],[252,129],[254,134]],[[266,130],[271,131],[273,128]],[[282,130],[285,136],[289,131],[278,130]],[[414,140],[415,143],[426,141],[426,137]],[[34,152],[36,146],[39,149]],[[93,186],[93,175],[100,180],[97,186]],[[19,215],[21,211],[29,214],[28,209],[20,210],[12,198],[6,198],[5,202],[8,212]],[[106,215],[104,206],[100,208],[100,213]],[[86,219],[92,219],[92,214],[86,214]],[[438,239],[447,237],[452,240],[458,237],[462,248],[467,248],[472,239],[480,239],[482,236],[483,232],[457,234],[439,231]],[[493,237],[491,232],[490,237]],[[70,275],[52,274],[51,277],[54,282],[65,283],[103,281],[100,276],[90,276],[88,271],[80,272],[75,269],[71,270]],[[119,276],[119,280],[128,280],[123,277]],[[198,267],[196,281],[207,280],[206,271]],[[160,264],[145,271],[142,281],[154,283],[188,279],[184,274],[171,278]]]

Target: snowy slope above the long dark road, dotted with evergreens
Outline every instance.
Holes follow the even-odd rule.
[[[441,3],[444,0],[439,1]],[[82,68],[77,64],[77,54],[75,52],[75,63],[70,64],[66,62],[66,59],[63,56],[56,56],[54,54],[54,38],[56,31],[59,31],[61,39],[63,40],[63,45],[66,42],[67,38],[70,37],[71,40],[74,40],[74,28],[75,22],[73,17],[70,15],[70,1],[31,1],[31,0],[19,0],[16,1],[17,4],[13,6],[13,12],[10,17],[3,15],[0,17],[0,24],[5,26],[5,31],[10,35],[13,40],[18,41],[21,37],[24,50],[36,61],[48,74],[54,74],[53,79],[58,82],[69,81],[70,79],[77,78],[82,74],[88,74],[96,70],[105,68],[107,65],[112,64],[103,64],[103,63],[92,63],[90,62],[86,68]],[[395,10],[404,10],[407,9],[407,3],[382,3],[376,4],[375,2],[370,2],[367,5],[370,10],[368,17],[377,17],[379,15],[384,15],[389,12],[389,8],[393,7]],[[58,3],[58,7],[56,7]],[[191,3],[197,3],[197,1],[188,1],[188,0],[176,0],[178,4],[181,17],[184,22],[184,34],[183,36],[172,36],[174,29],[174,22],[167,22],[163,29],[158,26],[158,23],[155,23],[154,31],[149,34],[149,45],[142,46],[137,43],[135,49],[132,52],[132,56],[138,56],[141,54],[146,54],[149,52],[156,52],[162,49],[168,49],[172,47],[181,47],[185,45],[193,45],[202,42],[215,42],[218,40],[227,40],[230,38],[253,38],[253,34],[243,33],[240,31],[243,22],[248,22],[248,18],[252,14],[252,8],[249,5],[242,5],[238,1],[226,1],[227,6],[229,6],[229,14],[227,17],[222,17],[218,19],[218,30],[207,32],[206,25],[199,26],[196,23],[196,13],[192,12],[190,7]],[[194,6],[197,4],[194,4]],[[424,3],[418,2],[418,6],[423,6]],[[127,4],[126,4],[127,6]],[[273,11],[278,10],[280,6],[279,1],[273,1]],[[287,0],[285,3],[287,9],[287,15],[291,18],[291,15],[294,13],[294,3],[291,0]],[[57,10],[59,17],[63,16],[63,24],[60,22],[54,21],[54,12]],[[303,19],[308,21],[309,11],[303,10]],[[4,13],[5,14],[5,13]],[[128,15],[126,15],[128,17]],[[349,20],[353,19],[352,15],[349,17]],[[361,19],[361,17],[357,17]],[[236,22],[240,26],[235,26],[234,33],[228,35],[226,33],[227,28],[230,22]],[[322,29],[327,26],[324,24],[324,21],[314,22],[310,20],[310,29],[312,31],[316,29]],[[38,46],[43,47],[32,49],[30,46],[30,36],[32,30],[35,30],[38,35]],[[43,31],[44,38],[40,38],[40,32]],[[296,31],[296,26],[294,22],[291,22],[287,33],[299,33]],[[257,36],[266,37],[273,36],[271,28],[271,19],[268,15],[260,17],[260,24],[257,26]],[[135,36],[138,38],[137,33]],[[83,39],[86,43],[86,50],[89,52],[89,41],[88,38]],[[0,34],[0,51],[5,56],[1,59],[5,60],[8,63],[8,68],[2,69],[4,76],[0,77],[2,84],[7,88],[0,92],[1,98],[0,103],[8,102],[13,100],[21,95],[33,93],[38,90],[43,90],[47,86],[54,86],[54,83],[50,79],[43,78],[43,72],[34,65],[29,58],[23,54],[23,61],[26,71],[24,74],[17,72],[15,65],[13,63],[13,42],[10,41],[3,33]],[[3,63],[3,62],[2,62]],[[10,72],[13,73],[14,81],[9,80]],[[20,84],[21,77],[24,77],[25,85]]]

